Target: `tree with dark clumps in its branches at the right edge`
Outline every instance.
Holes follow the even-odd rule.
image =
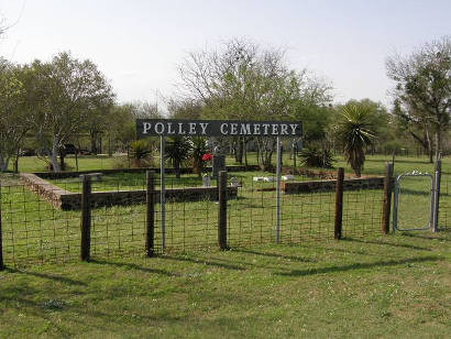
[[[396,81],[398,114],[436,134],[437,158],[451,120],[451,36],[427,43],[407,57],[389,57],[386,68]]]

